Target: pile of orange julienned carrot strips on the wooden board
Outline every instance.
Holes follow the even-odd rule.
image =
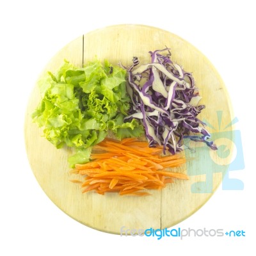
[[[101,152],[99,152],[101,150]],[[83,193],[118,192],[119,195],[150,195],[148,189],[162,189],[173,179],[188,179],[184,173],[168,172],[186,163],[180,155],[160,156],[163,148],[148,147],[145,141],[127,138],[122,141],[106,139],[93,147],[89,163],[76,164],[71,173],[85,175],[81,182]],[[95,151],[97,153],[95,153]]]

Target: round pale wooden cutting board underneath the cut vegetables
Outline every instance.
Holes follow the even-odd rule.
[[[206,106],[199,118],[209,124],[208,130],[218,140],[218,146],[225,143],[232,152],[232,132],[231,137],[225,140],[220,136],[221,125],[230,124],[232,120],[230,101],[221,77],[200,51],[168,31],[139,25],[99,29],[80,36],[61,49],[49,61],[44,72],[56,71],[64,59],[82,67],[95,56],[102,61],[109,60],[113,65],[119,61],[131,65],[132,57],[137,56],[143,64],[150,60],[148,51],[166,46],[171,48],[174,62],[193,72],[196,87],[203,97],[200,104]],[[120,234],[123,226],[123,230],[172,227],[207,202],[221,184],[230,163],[230,157],[221,156],[218,150],[211,152],[203,143],[187,142],[189,149],[185,150],[185,156],[188,163],[179,172],[188,173],[189,180],[175,180],[162,191],[150,191],[152,195],[145,197],[119,196],[116,193],[102,196],[92,191],[83,194],[77,184],[70,182],[76,178],[69,173],[67,163],[71,150],[56,149],[42,136],[42,129],[31,122],[31,113],[39,102],[40,94],[35,86],[28,103],[25,137],[36,180],[63,212],[97,230]]]

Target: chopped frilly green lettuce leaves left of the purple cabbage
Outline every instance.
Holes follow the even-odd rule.
[[[95,60],[83,68],[65,61],[56,74],[47,72],[38,82],[42,100],[33,121],[44,127],[45,138],[55,147],[76,148],[72,163],[80,163],[83,150],[104,140],[109,131],[120,140],[141,136],[137,120],[124,122],[131,108],[125,76],[123,68],[108,61]]]

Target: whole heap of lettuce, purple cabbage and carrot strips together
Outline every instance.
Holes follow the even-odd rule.
[[[42,100],[33,120],[55,147],[75,149],[68,162],[83,179],[72,180],[83,192],[149,195],[147,189],[188,179],[166,170],[185,163],[177,154],[184,138],[217,149],[197,118],[205,106],[198,106],[192,74],[170,60],[168,48],[150,54],[150,63],[139,67],[136,57],[131,67],[96,60],[81,68],[65,61],[39,83]],[[143,134],[147,141],[138,141]]]

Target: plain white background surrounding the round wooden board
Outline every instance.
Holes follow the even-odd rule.
[[[255,253],[253,1],[25,0],[4,1],[0,8],[0,255]],[[245,169],[232,172],[232,177],[243,180],[244,190],[218,189],[202,209],[176,227],[243,229],[246,237],[157,241],[106,234],[72,220],[36,182],[24,146],[24,114],[36,78],[68,42],[115,24],[145,24],[175,33],[200,49],[220,73],[239,118],[236,129],[241,131]]]

